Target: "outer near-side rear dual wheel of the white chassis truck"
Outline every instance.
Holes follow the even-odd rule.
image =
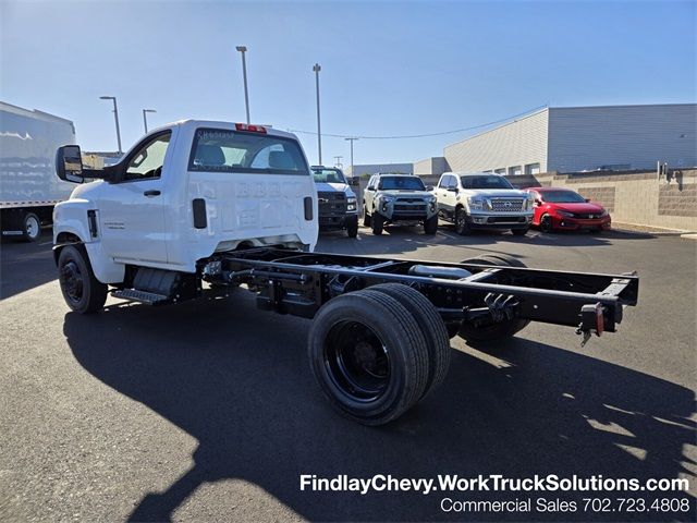
[[[331,405],[364,425],[384,425],[424,394],[429,352],[398,300],[364,289],[330,300],[309,330],[310,369]]]

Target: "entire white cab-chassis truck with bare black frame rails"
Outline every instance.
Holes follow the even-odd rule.
[[[78,146],[60,147],[56,169],[99,179],[54,208],[72,309],[98,312],[110,288],[164,305],[245,285],[260,309],[313,318],[313,374],[332,406],[366,425],[395,419],[443,381],[449,337],[494,342],[537,320],[587,340],[614,331],[637,300],[635,275],[528,269],[501,254],[442,264],[314,253],[307,159],[294,135],[269,127],[178,122],[101,171],[83,168]]]

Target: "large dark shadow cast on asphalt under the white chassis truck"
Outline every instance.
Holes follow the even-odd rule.
[[[147,494],[131,520],[169,520],[201,484],[224,478],[256,484],[310,520],[554,520],[559,514],[444,514],[439,492],[301,491],[299,475],[646,479],[688,473],[682,462],[688,461],[683,446],[694,445],[696,434],[690,390],[521,338],[489,354],[455,352],[442,388],[407,415],[382,428],[356,425],[337,415],[314,384],[305,353],[308,323],[255,312],[252,296],[239,293],[234,301],[65,315],[65,337],[85,369],[199,441],[195,465],[166,491]],[[634,521],[676,518],[632,514]]]

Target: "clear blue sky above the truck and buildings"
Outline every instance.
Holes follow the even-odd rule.
[[[0,1],[0,99],[75,123],[85,150],[124,149],[197,118],[387,136],[492,122],[543,105],[694,102],[695,1]],[[355,163],[415,161],[473,134],[360,139]],[[311,162],[317,139],[299,134]],[[348,165],[325,137],[323,162]]]

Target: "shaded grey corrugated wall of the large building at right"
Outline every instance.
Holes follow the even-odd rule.
[[[695,167],[696,131],[695,104],[550,108],[547,170]]]

